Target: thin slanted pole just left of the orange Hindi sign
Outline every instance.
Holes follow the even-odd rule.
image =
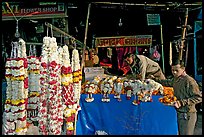
[[[87,33],[88,33],[88,26],[89,26],[89,14],[90,14],[90,9],[91,9],[91,3],[88,5],[88,13],[87,13],[87,18],[86,18],[86,29],[85,29],[85,36],[84,36],[84,47],[82,51],[82,60],[81,60],[81,70],[84,67],[84,60],[85,60],[85,50],[86,50],[86,40],[87,40]]]

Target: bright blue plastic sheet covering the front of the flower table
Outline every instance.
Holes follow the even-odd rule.
[[[101,102],[102,95],[94,94],[94,101],[85,101],[81,95],[81,111],[78,114],[77,135],[177,135],[176,110],[159,102],[141,102],[135,106],[126,95],[118,102],[110,95],[110,102]]]

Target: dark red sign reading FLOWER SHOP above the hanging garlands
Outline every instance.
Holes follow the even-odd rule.
[[[9,6],[9,7],[8,7]],[[10,9],[9,9],[10,8]],[[53,18],[65,16],[65,6],[64,3],[54,3],[54,4],[39,4],[34,3],[33,5],[26,5],[20,2],[3,2],[2,3],[2,20],[14,20],[13,14],[16,18],[24,19],[31,18]]]

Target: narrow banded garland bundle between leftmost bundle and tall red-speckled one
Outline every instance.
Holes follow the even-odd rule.
[[[28,57],[28,118],[38,121],[38,102],[40,97],[40,60],[36,56]]]

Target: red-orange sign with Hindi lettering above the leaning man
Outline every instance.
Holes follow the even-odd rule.
[[[152,44],[152,35],[98,37],[96,47],[147,46]]]

